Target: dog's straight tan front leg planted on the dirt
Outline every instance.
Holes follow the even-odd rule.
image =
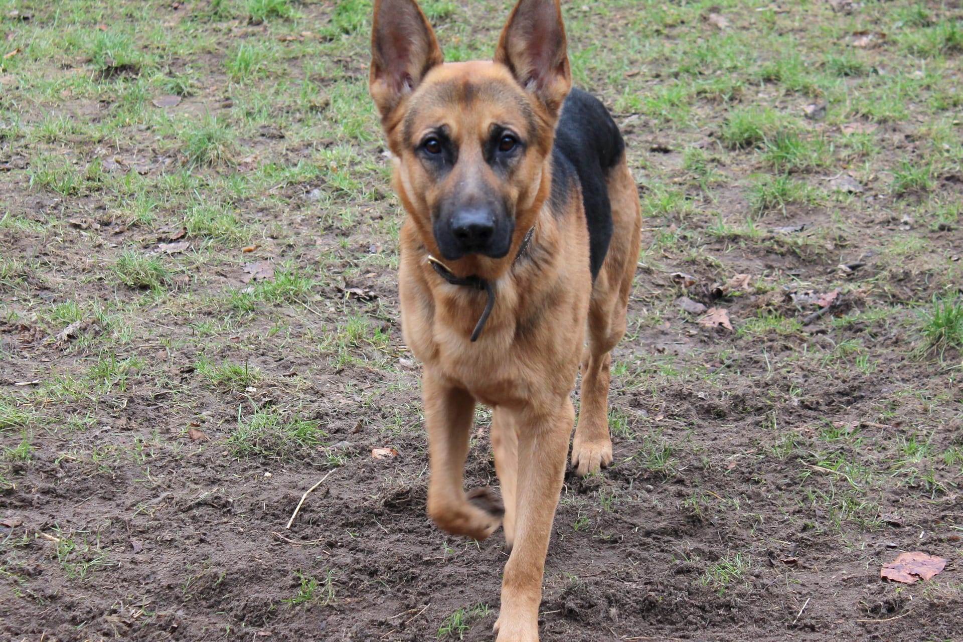
[[[538,606],[549,536],[559,503],[575,410],[568,397],[550,411],[518,418],[515,542],[502,579],[499,642],[537,642]]]

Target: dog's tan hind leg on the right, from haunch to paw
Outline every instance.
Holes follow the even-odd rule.
[[[607,178],[612,203],[612,243],[588,304],[588,347],[582,359],[582,407],[572,442],[572,468],[597,473],[612,463],[609,381],[612,348],[625,334],[625,315],[638,262],[641,210],[625,159]]]

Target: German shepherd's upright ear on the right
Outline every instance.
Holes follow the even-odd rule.
[[[572,88],[559,0],[518,0],[502,30],[495,62],[506,65],[557,116]]]

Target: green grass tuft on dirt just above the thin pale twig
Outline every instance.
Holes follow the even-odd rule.
[[[300,451],[324,445],[328,434],[321,422],[276,407],[260,408],[249,415],[238,411],[237,428],[227,438],[227,448],[236,457],[291,459]]]

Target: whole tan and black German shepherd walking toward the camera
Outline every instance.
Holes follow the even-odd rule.
[[[415,0],[376,0],[370,90],[407,213],[399,293],[424,364],[429,516],[480,540],[505,527],[495,629],[531,642],[580,365],[572,467],[612,463],[610,353],[641,228],[625,144],[571,88],[559,0],[519,0],[494,61],[449,64]],[[464,490],[478,402],[494,411],[504,508]]]

